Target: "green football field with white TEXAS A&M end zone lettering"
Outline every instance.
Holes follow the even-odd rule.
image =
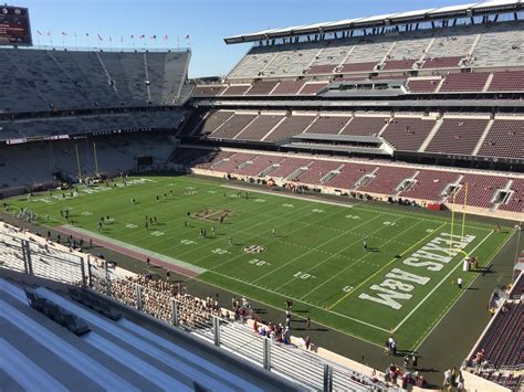
[[[462,272],[464,255],[488,265],[513,233],[470,216],[462,227],[461,214],[452,229],[444,215],[361,201],[338,205],[269,191],[250,191],[248,199],[233,189],[240,184],[136,177],[127,186],[8,203],[51,226],[66,225],[61,210],[70,209],[80,230],[188,263],[197,279],[282,309],[291,298],[300,315],[375,345],[394,332],[404,349],[416,349],[459,299],[459,277],[468,287],[479,275]],[[146,229],[146,215],[157,223]]]

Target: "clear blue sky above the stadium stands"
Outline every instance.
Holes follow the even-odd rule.
[[[248,52],[250,44],[226,45],[223,38],[240,33],[286,28],[316,22],[337,21],[357,17],[469,3],[461,0],[20,0],[15,6],[28,7],[31,14],[34,44],[97,46],[189,45],[192,59],[190,77],[224,75]],[[42,32],[38,36],[36,31]],[[62,36],[66,32],[67,36]],[[155,42],[150,38],[157,35]],[[169,40],[163,40],[168,35]],[[189,35],[189,40],[185,36]],[[120,44],[120,36],[124,38]]]

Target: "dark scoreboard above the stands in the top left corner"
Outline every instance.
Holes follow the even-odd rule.
[[[32,44],[29,10],[22,7],[0,6],[0,45]]]

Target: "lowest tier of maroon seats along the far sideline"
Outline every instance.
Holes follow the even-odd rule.
[[[185,149],[177,149],[172,156],[179,151],[186,157]],[[200,155],[193,150],[190,153],[195,158],[186,165],[188,168],[213,170],[240,178],[284,179],[313,187],[379,193],[409,200],[462,204],[468,184],[469,206],[491,209],[496,204],[501,211],[523,212],[524,180],[520,178],[321,160],[313,157],[256,155],[254,151],[247,153],[200,149]],[[510,189],[506,189],[507,184],[511,184]],[[495,200],[503,190],[509,194],[507,199]]]

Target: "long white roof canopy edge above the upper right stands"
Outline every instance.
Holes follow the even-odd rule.
[[[428,22],[449,18],[470,18],[499,12],[517,12],[522,10],[524,10],[524,0],[492,0],[462,6],[431,8],[419,11],[397,12],[368,18],[355,18],[337,22],[305,24],[285,29],[270,29],[255,33],[228,36],[224,39],[224,41],[227,44],[233,44],[305,34],[331,33],[353,29],[377,28],[397,23]]]

